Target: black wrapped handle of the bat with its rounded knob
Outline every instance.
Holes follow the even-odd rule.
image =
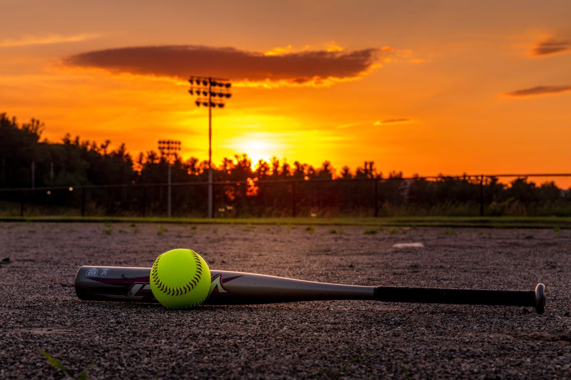
[[[373,299],[424,304],[526,306],[542,314],[545,310],[545,285],[537,284],[533,291],[380,286],[375,288]]]

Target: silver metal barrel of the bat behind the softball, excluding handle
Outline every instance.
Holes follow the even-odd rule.
[[[85,265],[75,275],[79,299],[157,302],[152,295],[151,268]],[[204,304],[246,305],[320,300],[373,300],[375,287],[340,285],[211,270],[210,293]]]

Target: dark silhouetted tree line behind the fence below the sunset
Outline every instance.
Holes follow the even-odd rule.
[[[49,142],[42,139],[44,129],[41,121],[19,123],[15,117],[0,114],[0,189],[124,185],[122,189],[91,189],[82,202],[95,214],[163,213],[166,191],[162,186],[144,191],[126,189],[166,182],[166,156],[149,150],[134,158],[124,144],[110,149],[109,140],[97,143],[70,134],[61,142]],[[172,182],[207,182],[207,161],[196,157],[183,160],[175,154],[171,164]],[[368,215],[373,208],[380,215],[475,215],[481,201],[489,215],[571,215],[569,190],[560,189],[553,181],[537,185],[527,178],[508,184],[498,178],[480,183],[480,178],[468,176],[425,179],[415,175],[411,179],[396,171],[383,175],[372,161],[354,171],[348,166],[337,171],[329,161],[314,167],[300,161],[289,164],[277,157],[252,165],[247,154],[224,158],[213,170],[214,181],[225,182],[215,190],[219,215],[289,215],[295,208],[298,215],[320,216]],[[312,181],[315,179],[320,181]],[[17,197],[0,191],[0,199],[5,201]],[[50,191],[26,198],[26,202],[38,207],[77,205],[78,197]],[[176,213],[181,215],[202,215],[204,199],[205,186],[173,189]]]

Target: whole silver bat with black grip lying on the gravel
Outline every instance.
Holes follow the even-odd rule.
[[[157,302],[149,282],[151,268],[92,267],[75,275],[75,292],[81,300]],[[210,292],[204,304],[247,305],[297,301],[376,300],[427,304],[505,305],[545,310],[545,285],[530,291],[488,289],[409,288],[341,285],[259,275],[210,271]]]

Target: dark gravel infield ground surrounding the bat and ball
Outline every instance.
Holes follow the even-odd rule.
[[[571,231],[0,223],[0,378],[569,378]],[[332,233],[335,228],[336,233]],[[393,248],[396,243],[425,248]],[[532,289],[532,308],[318,301],[171,311],[80,301],[81,265],[211,268],[357,285]],[[346,363],[350,362],[348,365]]]

